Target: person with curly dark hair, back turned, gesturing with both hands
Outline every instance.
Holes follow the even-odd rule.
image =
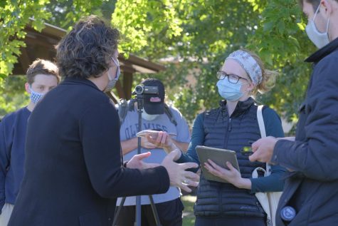
[[[28,120],[25,174],[9,225],[111,226],[116,198],[190,190],[198,176],[167,155],[150,153],[122,162],[120,123],[105,91],[120,76],[119,31],[97,16],[81,19],[56,46],[65,80],[46,95]],[[51,111],[53,109],[53,111]],[[112,135],[113,134],[113,135]]]

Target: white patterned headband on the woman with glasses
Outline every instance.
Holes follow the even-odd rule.
[[[226,60],[228,59],[237,61],[248,73],[255,86],[262,81],[262,69],[260,69],[257,61],[249,53],[243,50],[234,51],[226,58]]]

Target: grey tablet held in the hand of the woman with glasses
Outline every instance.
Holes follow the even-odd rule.
[[[221,178],[216,177],[215,175],[212,175],[206,168],[204,168],[204,163],[206,163],[208,159],[212,160],[213,163],[216,163],[217,165],[226,169],[228,169],[228,167],[226,166],[226,162],[228,161],[233,165],[234,168],[238,170],[238,172],[241,172],[238,166],[236,151],[197,145],[196,153],[199,156],[199,162],[201,163],[202,173],[204,175],[204,178],[206,178],[206,180],[214,180],[218,182],[228,183],[226,180],[223,180]]]

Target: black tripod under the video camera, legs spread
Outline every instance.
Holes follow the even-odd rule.
[[[144,96],[143,94],[137,94],[136,98],[133,98],[130,100],[131,103],[137,102],[137,113],[139,118],[138,128],[137,132],[142,130],[142,108],[143,108],[143,100]],[[137,138],[137,155],[141,154],[141,137]],[[159,222],[159,214],[157,213],[156,206],[154,204],[154,199],[152,195],[148,195],[150,200],[150,205],[152,206],[152,213],[155,218],[155,222],[157,226],[161,226],[161,222]],[[112,222],[112,226],[115,226],[117,223],[117,217],[120,215],[122,206],[125,204],[125,198],[122,197],[122,200],[120,202],[120,206],[117,208],[117,211],[115,212],[114,221]],[[135,222],[134,226],[141,226],[141,196],[136,197],[136,206],[135,206]]]

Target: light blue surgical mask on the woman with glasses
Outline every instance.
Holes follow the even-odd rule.
[[[227,101],[238,101],[238,99],[243,96],[243,92],[241,92],[243,83],[241,83],[241,81],[233,84],[228,81],[228,78],[224,78],[218,80],[216,85],[218,87],[219,95]]]

